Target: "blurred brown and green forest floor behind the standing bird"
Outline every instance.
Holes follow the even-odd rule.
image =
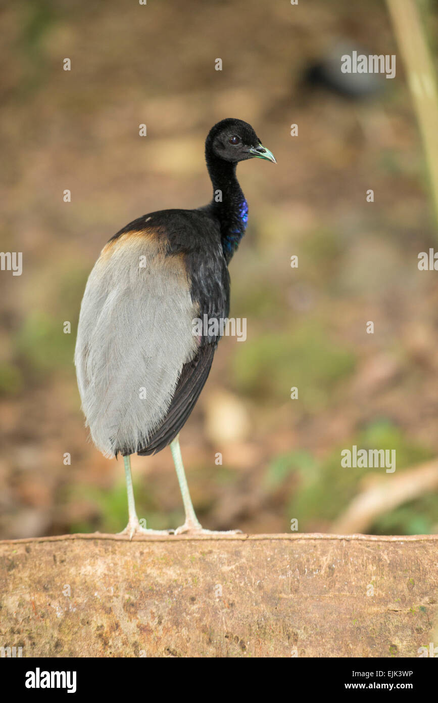
[[[434,6],[435,57],[437,25]],[[0,276],[1,537],[125,526],[123,463],[88,441],[80,411],[81,296],[119,228],[211,198],[204,139],[224,117],[251,122],[278,164],[239,166],[249,222],[230,315],[248,337],[220,342],[180,435],[204,527],[329,531],[373,477],[390,490],[437,456],[437,273],[417,266],[437,239],[404,68],[397,56],[368,101],[301,82],[337,37],[397,54],[383,2],[18,1],[1,27],[1,247],[23,252],[22,276]],[[342,468],[352,444],[395,449],[396,472]],[[139,517],[181,524],[170,451],[133,457],[133,474]],[[437,495],[367,531],[437,532]]]

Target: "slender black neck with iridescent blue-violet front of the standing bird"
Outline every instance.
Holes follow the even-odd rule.
[[[206,161],[213,184],[213,200],[210,207],[220,222],[223,252],[229,262],[244,236],[248,205],[237,180],[237,164],[209,155]]]

